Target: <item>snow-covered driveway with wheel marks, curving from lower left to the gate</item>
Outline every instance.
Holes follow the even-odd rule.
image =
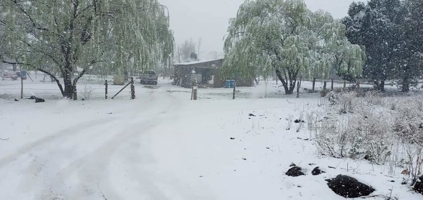
[[[143,153],[143,137],[175,118],[179,109],[177,98],[170,93],[161,96],[160,101],[151,95],[147,101],[148,106],[139,105],[141,101],[120,104],[113,109],[116,113],[102,118],[78,120],[84,115],[81,111],[62,114],[61,118],[67,120],[42,122],[60,129],[47,128],[52,131],[44,137],[0,157],[0,171],[8,172],[1,175],[0,188],[8,188],[8,192],[2,192],[0,196],[6,196],[0,199],[98,199],[106,196],[104,193],[113,199],[126,199],[127,196],[120,196],[121,184],[116,181],[130,183],[136,178],[131,174],[143,174],[140,166],[152,160]],[[124,175],[122,180],[111,178],[120,175]],[[140,193],[148,193],[143,188],[149,192],[157,190],[142,177],[137,181],[142,184]],[[123,193],[127,193],[126,189]]]

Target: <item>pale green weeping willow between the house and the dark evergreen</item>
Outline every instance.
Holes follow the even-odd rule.
[[[222,73],[275,71],[291,94],[299,73],[327,79],[359,77],[364,51],[345,37],[345,26],[326,12],[309,11],[302,0],[247,0],[230,20]]]

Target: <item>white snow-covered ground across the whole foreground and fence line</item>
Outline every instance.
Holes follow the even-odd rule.
[[[319,156],[306,124],[287,130],[287,119],[324,112],[318,93],[280,95],[272,82],[273,98],[260,98],[261,82],[238,88],[235,101],[232,89],[199,89],[190,101],[189,89],[159,78],[157,88],[137,83],[135,100],[129,89],[103,100],[102,81],[83,81],[95,88],[89,101],[55,99],[55,83],[25,80],[39,104],[14,102],[19,82],[0,81],[9,97],[0,99],[0,199],[344,199],[325,181],[338,174],[373,186],[379,196],[369,199],[423,198],[401,185],[402,169]],[[307,174],[286,176],[291,163]],[[311,175],[315,166],[327,173]]]

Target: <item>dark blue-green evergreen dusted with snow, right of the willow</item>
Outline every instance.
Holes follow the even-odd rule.
[[[366,47],[364,76],[375,88],[384,90],[386,79],[397,79],[402,91],[417,83],[422,73],[421,5],[417,0],[351,4],[343,23],[349,41]]]

